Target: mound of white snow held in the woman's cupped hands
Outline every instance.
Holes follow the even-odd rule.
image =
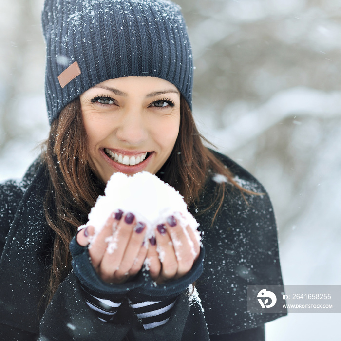
[[[96,236],[109,216],[119,209],[124,213],[133,213],[136,221],[146,224],[145,241],[155,236],[157,225],[164,224],[166,219],[173,215],[188,238],[187,226],[194,231],[201,244],[201,237],[197,231],[199,224],[189,213],[181,194],[149,172],[143,171],[133,176],[114,173],[108,181],[105,195],[99,196],[95,206],[91,209],[87,224],[78,229],[89,225],[94,226]],[[112,249],[114,248],[112,246]]]

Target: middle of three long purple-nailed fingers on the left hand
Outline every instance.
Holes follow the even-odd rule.
[[[118,223],[114,234],[107,239],[109,243],[106,245],[99,266],[99,274],[103,281],[111,282],[114,280],[114,273],[118,270],[122,262],[123,255],[133,232],[134,223],[135,216],[133,213],[127,213]]]

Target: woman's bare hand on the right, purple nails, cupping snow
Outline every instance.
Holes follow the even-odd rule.
[[[189,226],[186,231],[173,216],[157,226],[156,239],[150,239],[147,253],[150,274],[156,283],[186,275],[199,257],[198,240]]]

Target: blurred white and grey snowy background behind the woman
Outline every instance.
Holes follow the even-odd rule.
[[[0,180],[47,137],[42,0],[0,1]],[[339,0],[175,0],[195,61],[194,114],[275,208],[284,284],[341,284]],[[340,340],[340,314],[291,314],[267,341]]]

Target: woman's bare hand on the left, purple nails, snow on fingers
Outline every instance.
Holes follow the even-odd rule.
[[[132,213],[123,215],[119,210],[107,220],[103,229],[94,237],[95,228],[88,226],[77,233],[76,240],[81,246],[89,246],[91,262],[107,283],[120,284],[134,276],[141,269],[147,255],[143,246],[145,224],[136,222]]]

